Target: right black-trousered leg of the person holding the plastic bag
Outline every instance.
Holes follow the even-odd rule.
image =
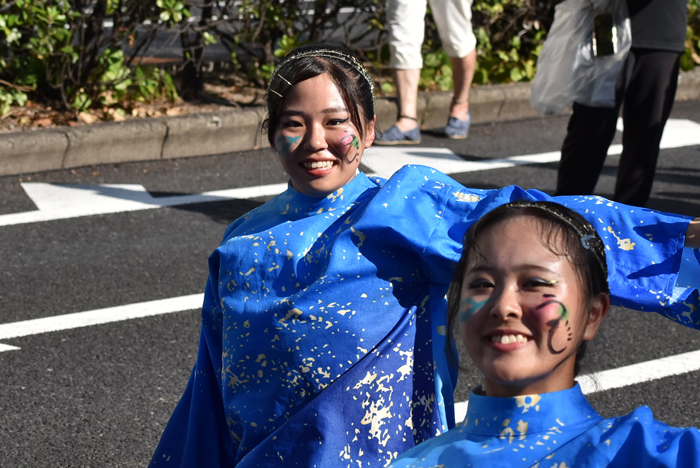
[[[659,145],[678,84],[677,52],[633,49],[634,69],[622,109],[622,155],[616,201],[645,206],[651,194]]]

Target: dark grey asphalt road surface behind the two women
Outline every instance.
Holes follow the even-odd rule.
[[[672,118],[700,124],[700,102],[678,103]],[[566,121],[478,125],[469,139],[457,142],[426,133],[420,146],[448,148],[477,162],[551,152],[561,145]],[[365,160],[377,163],[382,156],[387,157],[372,148]],[[601,195],[612,193],[617,159],[608,158],[597,189]],[[556,166],[550,162],[452,176],[470,187],[518,184],[551,193]],[[2,224],[11,215],[40,208],[23,183],[82,187],[77,190],[86,195],[74,201],[79,204],[89,199],[86,186],[103,184],[142,185],[156,199],[166,199],[285,180],[269,150],[0,178],[0,330],[48,317],[68,323],[67,314],[201,293],[207,257],[226,226],[267,199],[222,198]],[[48,202],[56,199],[63,200],[54,196]],[[700,143],[662,151],[649,206],[700,215]],[[199,312],[191,309],[0,338],[0,467],[146,466],[184,390],[198,335]],[[699,332],[654,314],[615,309],[586,362],[588,371],[603,371],[696,350]],[[457,399],[465,399],[477,383],[475,372],[464,372]],[[693,371],[596,392],[590,399],[607,416],[647,404],[669,424],[697,426],[698,394],[700,371]]]

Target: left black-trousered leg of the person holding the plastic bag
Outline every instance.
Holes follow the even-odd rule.
[[[615,137],[617,116],[634,68],[630,54],[615,87],[615,107],[589,107],[574,103],[561,148],[556,195],[590,195],[603,169],[608,148]]]

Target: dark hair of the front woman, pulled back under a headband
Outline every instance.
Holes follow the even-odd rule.
[[[457,358],[454,351],[454,327],[459,313],[460,296],[464,271],[474,255],[481,255],[479,238],[481,234],[501,221],[518,216],[531,216],[538,221],[542,244],[559,256],[566,257],[579,279],[583,288],[584,306],[591,307],[593,297],[601,293],[610,294],[608,286],[608,271],[605,260],[605,244],[593,226],[583,216],[552,202],[516,201],[501,205],[482,216],[464,235],[462,258],[457,264],[457,270],[452,278],[447,292],[447,354],[453,363]],[[557,249],[557,241],[562,243],[562,249]],[[585,342],[581,343],[576,353],[574,375],[580,370],[579,361],[585,353]]]

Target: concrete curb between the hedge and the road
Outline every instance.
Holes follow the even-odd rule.
[[[469,97],[472,121],[537,117],[529,97],[529,83],[474,87]],[[445,125],[451,98],[449,92],[418,96],[422,128]],[[700,68],[681,74],[676,100],[700,100]],[[391,127],[397,112],[394,99],[377,100],[379,129]],[[269,146],[260,132],[264,118],[262,108],[233,109],[0,134],[0,176],[257,149]]]

